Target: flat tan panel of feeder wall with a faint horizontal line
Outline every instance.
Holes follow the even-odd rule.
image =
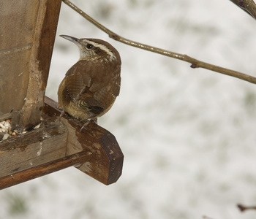
[[[39,1],[0,0],[0,115],[23,107]]]

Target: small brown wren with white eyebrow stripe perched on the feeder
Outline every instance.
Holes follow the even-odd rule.
[[[78,120],[97,121],[110,110],[119,94],[120,55],[101,39],[60,37],[78,45],[80,59],[67,71],[59,85],[59,108]]]

